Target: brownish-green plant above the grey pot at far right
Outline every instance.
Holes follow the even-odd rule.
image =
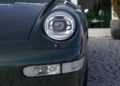
[[[120,0],[111,0],[115,15],[120,19]]]

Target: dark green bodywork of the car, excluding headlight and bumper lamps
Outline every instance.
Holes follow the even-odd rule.
[[[41,0],[14,1],[2,0],[5,4],[0,4],[0,85],[83,86],[88,30],[82,10],[64,0],[48,0],[45,5]],[[6,2],[10,4],[6,6]],[[56,10],[68,11],[76,20],[75,33],[64,41],[53,40],[44,32],[44,19]],[[34,78],[23,74],[28,66],[62,65],[82,58],[83,68],[72,73]]]

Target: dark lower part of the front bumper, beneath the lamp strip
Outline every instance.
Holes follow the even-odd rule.
[[[0,86],[79,86],[82,83],[83,70],[54,76],[28,78],[23,75],[22,69],[22,67],[1,68]]]

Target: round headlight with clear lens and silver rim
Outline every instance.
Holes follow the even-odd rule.
[[[54,40],[65,40],[75,31],[75,20],[65,11],[55,11],[47,16],[44,23],[45,33]]]

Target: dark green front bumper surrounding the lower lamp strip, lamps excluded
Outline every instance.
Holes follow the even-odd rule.
[[[23,69],[34,65],[62,64],[82,58],[80,47],[34,50],[20,42],[0,44],[0,86],[78,86],[83,70],[52,76],[26,77]],[[17,46],[17,47],[16,47]]]

